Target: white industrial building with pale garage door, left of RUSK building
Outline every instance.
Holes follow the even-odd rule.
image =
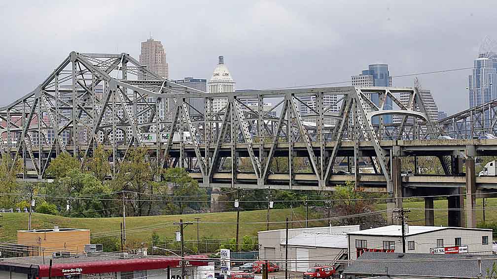
[[[288,269],[303,272],[309,266],[329,265],[340,257],[346,257],[347,233],[359,229],[359,225],[289,229]],[[259,258],[273,260],[284,268],[285,230],[259,231],[258,241]]]

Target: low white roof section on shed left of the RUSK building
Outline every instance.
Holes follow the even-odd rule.
[[[280,245],[285,245],[281,241]],[[288,239],[288,246],[308,246],[324,248],[347,248],[348,237],[342,233],[304,232]]]

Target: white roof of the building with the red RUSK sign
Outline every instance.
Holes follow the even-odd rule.
[[[436,226],[409,226],[406,231],[406,235],[414,235],[419,233],[426,233],[444,229],[461,229],[461,230],[483,230],[492,231],[492,229],[481,229],[481,228],[460,228],[460,227],[436,227]],[[359,230],[354,232],[349,232],[352,235],[378,235],[378,236],[402,236],[402,226],[401,225],[389,225],[365,230]]]

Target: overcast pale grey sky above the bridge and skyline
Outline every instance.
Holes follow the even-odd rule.
[[[482,39],[497,40],[496,18],[496,0],[0,1],[0,105],[73,50],[138,58],[150,34],[172,79],[209,78],[224,55],[237,89],[347,81],[379,62],[393,76],[472,67]],[[419,78],[453,113],[468,107],[468,74]]]

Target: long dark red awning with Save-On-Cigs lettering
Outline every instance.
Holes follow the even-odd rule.
[[[202,257],[185,257],[185,267],[207,266],[206,259]],[[135,270],[155,270],[180,268],[180,258],[154,258],[154,259],[114,259],[110,261],[78,262],[53,264],[52,276],[64,276],[71,274],[95,274],[104,272],[129,272]],[[40,277],[48,277],[50,266],[40,265]]]

